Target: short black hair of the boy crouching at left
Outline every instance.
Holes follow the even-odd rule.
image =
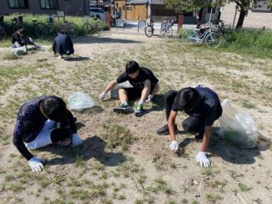
[[[67,119],[65,102],[56,96],[50,96],[41,102],[42,112],[50,119],[57,122]]]

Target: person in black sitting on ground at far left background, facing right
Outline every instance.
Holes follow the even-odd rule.
[[[34,48],[40,48],[32,38],[25,36],[25,29],[21,28],[12,35],[12,48],[19,48],[24,45],[33,45]]]

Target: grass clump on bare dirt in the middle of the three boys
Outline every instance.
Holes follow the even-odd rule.
[[[101,138],[107,143],[108,149],[114,149],[118,146],[123,151],[127,150],[128,145],[132,143],[132,134],[129,129],[117,124],[103,125],[101,129]]]

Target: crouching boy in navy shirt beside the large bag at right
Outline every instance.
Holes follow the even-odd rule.
[[[182,122],[185,131],[197,132],[195,139],[202,140],[200,152],[196,156],[201,166],[211,165],[207,158],[207,149],[212,135],[213,123],[222,115],[222,107],[217,93],[204,86],[187,87],[180,91],[168,91],[165,94],[166,119],[168,124],[157,130],[160,135],[171,135],[170,150],[177,152],[179,144],[175,133],[177,125],[175,119],[178,111],[189,115]]]

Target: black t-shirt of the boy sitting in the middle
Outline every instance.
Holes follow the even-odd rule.
[[[151,70],[145,67],[140,67],[139,76],[137,78],[131,79],[128,74],[124,72],[117,78],[117,83],[121,84],[125,81],[129,81],[133,88],[143,90],[146,80],[150,80],[151,89],[153,89],[154,86],[159,82],[159,80],[154,76]]]

